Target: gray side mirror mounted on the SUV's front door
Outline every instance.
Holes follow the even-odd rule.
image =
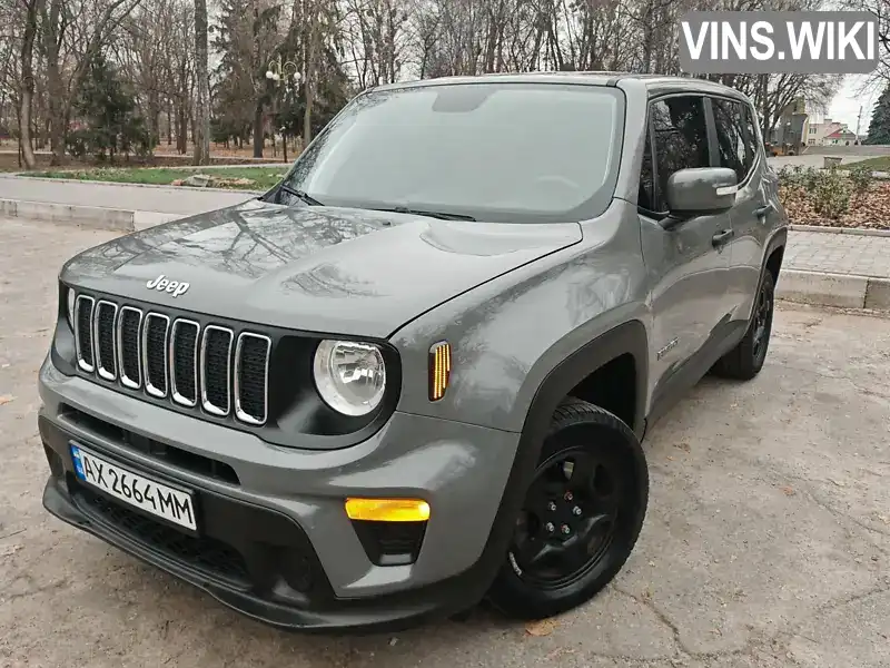
[[[674,171],[668,179],[666,227],[693,216],[722,214],[735,204],[739,179],[728,167],[695,167]]]

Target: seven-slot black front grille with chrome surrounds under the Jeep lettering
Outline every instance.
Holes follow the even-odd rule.
[[[268,420],[271,338],[264,334],[240,332],[236,346],[230,328],[88,295],[77,297],[73,324],[82,372],[245,424]]]

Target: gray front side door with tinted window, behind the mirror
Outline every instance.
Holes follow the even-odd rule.
[[[705,101],[682,95],[650,102],[640,187],[643,257],[652,285],[650,396],[729,320],[730,214],[689,218],[671,229],[659,224],[668,215],[668,178],[680,169],[711,166]]]

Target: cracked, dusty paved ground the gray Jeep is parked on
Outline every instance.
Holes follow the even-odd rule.
[[[291,636],[41,508],[36,373],[57,272],[111,235],[0,219],[0,666],[890,666],[890,321],[782,306],[755,381],[706,379],[656,426],[637,549],[550,635],[478,611]]]

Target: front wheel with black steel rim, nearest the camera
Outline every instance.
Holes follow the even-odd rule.
[[[554,471],[565,474],[570,461],[567,479],[552,478]],[[595,473],[583,475],[587,470]],[[584,482],[587,479],[589,487]],[[574,491],[560,498],[563,484],[571,485]],[[542,495],[545,488],[547,493]],[[551,497],[551,491],[555,495]],[[548,499],[544,510],[541,510],[541,499]],[[631,429],[609,411],[577,399],[565,400],[553,414],[535,477],[526,491],[508,553],[492,583],[488,600],[507,617],[525,620],[552,617],[589,601],[630,557],[643,525],[647,501],[645,454]],[[557,503],[556,509],[551,508]],[[605,508],[612,505],[614,515],[603,520]],[[576,517],[575,511],[582,507],[583,514]],[[532,512],[550,513],[544,519],[554,521],[533,520]],[[554,523],[558,528],[547,533],[545,528]],[[570,524],[577,531],[565,537],[562,529]],[[585,527],[594,530],[585,533]],[[528,538],[532,534],[534,537]],[[548,553],[534,568],[526,567],[523,554],[530,551],[528,546],[533,546],[531,552],[536,552],[542,544],[551,543],[562,552]],[[567,557],[570,553],[581,562],[591,561],[562,579],[543,577],[542,573],[558,573],[564,566],[568,568],[574,561]]]

